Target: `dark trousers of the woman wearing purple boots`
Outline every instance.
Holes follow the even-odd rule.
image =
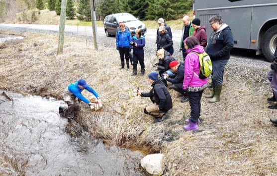
[[[187,92],[190,110],[191,110],[189,119],[194,123],[197,122],[200,116],[202,93],[203,93],[203,90],[196,91],[196,92],[191,92],[191,91]]]

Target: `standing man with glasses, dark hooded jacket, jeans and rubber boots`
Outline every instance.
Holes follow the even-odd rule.
[[[230,51],[234,46],[234,39],[231,28],[227,24],[223,24],[221,16],[214,15],[210,17],[209,23],[213,32],[208,40],[206,53],[210,56],[212,62],[213,92],[205,97],[212,98],[209,102],[214,103],[220,99],[224,68],[230,59]]]

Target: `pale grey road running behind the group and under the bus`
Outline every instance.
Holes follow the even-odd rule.
[[[17,32],[26,32],[26,31],[37,31],[37,32],[58,32],[58,25],[41,25],[41,24],[0,24],[0,30],[12,30]],[[92,36],[92,27],[91,26],[65,26],[65,33],[79,35],[79,36]],[[146,50],[151,52],[155,50],[155,41],[156,41],[157,29],[147,29],[145,37],[147,40]],[[179,42],[181,38],[181,30],[172,30],[173,41],[174,41],[174,56],[177,58],[182,58],[181,53],[178,53]],[[97,28],[97,34],[99,40],[105,40],[112,42],[110,37],[105,37],[105,32],[103,27]],[[263,55],[256,56],[254,50],[245,50],[245,49],[233,49],[231,52],[231,58],[229,63],[235,65],[243,65],[245,67],[257,67],[257,68],[270,68],[270,63],[265,60]]]

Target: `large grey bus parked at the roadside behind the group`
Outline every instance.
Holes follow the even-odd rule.
[[[222,16],[230,25],[234,48],[256,50],[273,61],[277,47],[277,0],[193,0],[193,14],[212,32],[209,18]]]

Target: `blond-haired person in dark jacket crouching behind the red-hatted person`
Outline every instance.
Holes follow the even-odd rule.
[[[169,64],[172,61],[175,61],[176,59],[170,55],[169,52],[165,51],[164,49],[160,49],[157,51],[157,58],[159,59],[159,62],[155,64],[157,70],[159,71],[159,75],[161,78],[163,78],[163,74],[170,70]],[[173,73],[173,71],[171,70],[171,72],[169,72],[168,74]],[[172,74],[170,76],[173,76]],[[163,81],[165,83],[165,86],[167,87],[167,82],[164,80]]]

